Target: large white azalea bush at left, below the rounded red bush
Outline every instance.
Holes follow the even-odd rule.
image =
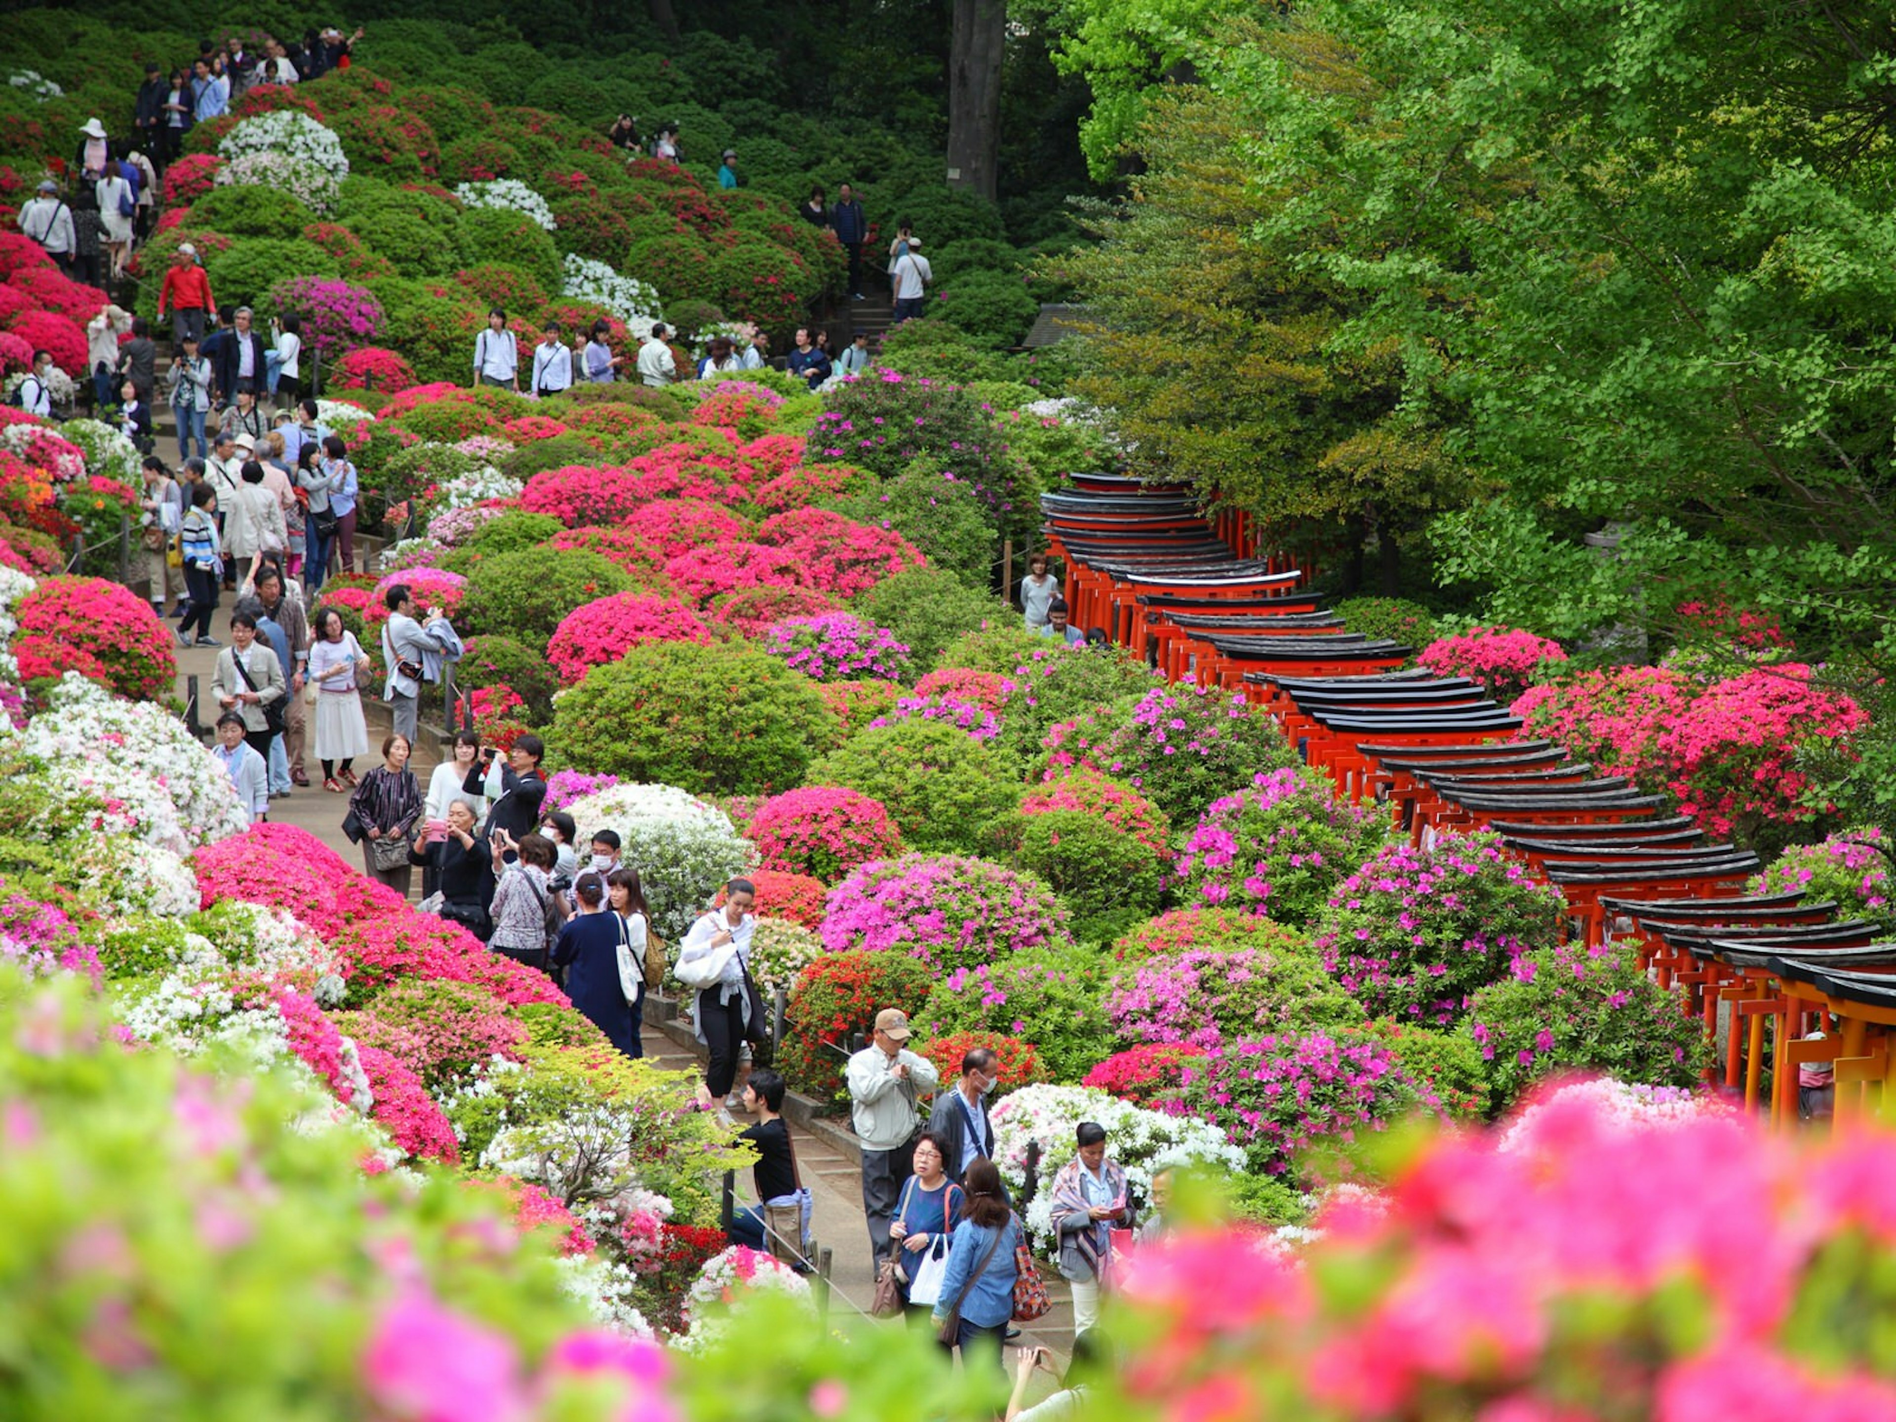
[[[99,834],[135,834],[174,855],[243,834],[224,766],[161,705],[121,702],[68,671],[46,715],[6,741],[46,766],[47,823],[78,811]]]

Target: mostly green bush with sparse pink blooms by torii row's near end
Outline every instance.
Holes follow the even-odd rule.
[[[1568,942],[1517,957],[1481,988],[1464,1022],[1486,1066],[1490,1113],[1560,1069],[1602,1071],[1651,1086],[1693,1086],[1705,1026],[1625,948]]]

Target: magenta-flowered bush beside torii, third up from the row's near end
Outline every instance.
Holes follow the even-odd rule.
[[[1200,902],[1308,923],[1386,838],[1384,811],[1340,800],[1322,775],[1259,772],[1251,789],[1204,811],[1179,853],[1177,878]]]

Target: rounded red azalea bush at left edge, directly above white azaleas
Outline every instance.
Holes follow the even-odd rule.
[[[13,611],[21,639],[36,639],[44,671],[82,671],[118,696],[163,702],[178,683],[176,641],[152,605],[104,578],[44,578]],[[15,648],[15,654],[19,648]]]

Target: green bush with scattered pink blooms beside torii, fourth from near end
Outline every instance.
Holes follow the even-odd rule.
[[[1041,745],[1048,770],[1096,766],[1134,785],[1174,825],[1189,825],[1259,770],[1297,758],[1244,696],[1196,686],[1155,686],[1088,711],[1052,726]]]

